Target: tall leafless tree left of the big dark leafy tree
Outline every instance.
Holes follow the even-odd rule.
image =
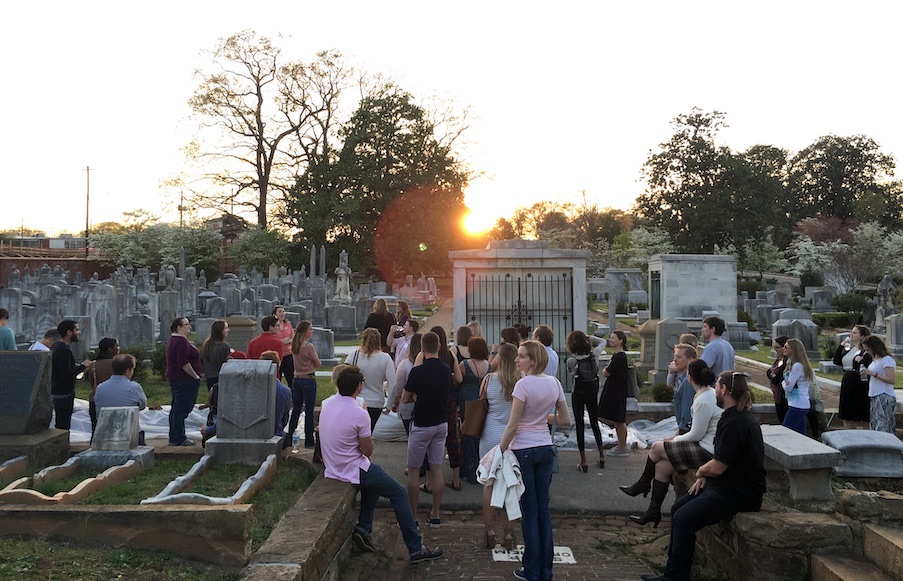
[[[333,50],[283,63],[276,44],[249,30],[209,54],[213,72],[196,71],[200,83],[188,101],[201,132],[186,151],[204,168],[197,181],[212,188],[192,188],[192,202],[252,210],[266,228],[271,205],[327,151],[353,71]]]

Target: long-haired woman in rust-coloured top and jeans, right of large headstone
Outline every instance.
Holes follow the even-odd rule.
[[[314,406],[317,405],[317,368],[320,356],[310,343],[314,326],[310,321],[301,321],[292,337],[292,415],[288,421],[288,438],[298,429],[301,408],[304,408],[304,447],[314,447]]]

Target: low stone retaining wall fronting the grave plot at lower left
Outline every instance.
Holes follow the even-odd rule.
[[[241,567],[251,554],[251,505],[2,506],[4,536],[67,539],[152,549]]]

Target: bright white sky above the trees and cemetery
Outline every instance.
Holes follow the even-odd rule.
[[[185,167],[193,74],[242,29],[469,108],[458,154],[484,223],[581,192],[630,208],[643,162],[693,107],[726,113],[718,144],[734,151],[865,134],[903,155],[895,2],[7,4],[0,230],[83,231],[87,167],[92,225],[137,208],[178,221],[161,182]]]

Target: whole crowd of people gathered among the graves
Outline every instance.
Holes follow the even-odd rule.
[[[0,309],[0,318],[3,314]],[[461,490],[463,481],[483,485],[486,546],[513,548],[517,542],[514,523],[519,518],[524,553],[515,576],[550,579],[553,531],[549,491],[552,475],[558,470],[550,428],[571,425],[573,410],[580,454],[577,469],[583,473],[589,467],[584,435],[587,423],[599,468],[605,467],[609,456],[629,454],[626,403],[631,370],[627,337],[621,331],[613,331],[607,339],[610,357],[604,366],[586,333],[575,330],[567,336],[565,365],[573,377],[569,408],[557,377],[559,355],[552,347],[550,327],[506,327],[490,342],[480,324],[473,321],[456,330],[455,345],[450,346],[441,326],[421,333],[419,321],[404,301],[399,301],[393,315],[385,300],[378,299],[360,345],[333,373],[336,394],[322,402],[317,425],[315,372],[321,361],[311,343],[313,326],[301,321],[292,328],[281,305],[260,325],[260,335],[242,353],[230,347],[226,321],[212,324],[200,348],[189,339],[192,327],[188,318],[172,322],[165,373],[172,394],[169,444],[196,443],[186,434],[185,419],[196,405],[202,378],[209,392],[209,419],[201,433],[207,440],[216,434],[217,392],[224,363],[241,358],[273,361],[277,384],[274,433],[289,446],[303,411],[304,446],[319,444],[325,475],[360,487],[360,514],[352,537],[360,550],[375,550],[370,538],[373,510],[383,496],[395,510],[411,561],[441,556],[441,550],[423,545],[416,518],[419,498],[421,493],[431,495],[425,523],[440,527],[443,491]],[[677,430],[651,446],[636,482],[620,486],[630,496],[651,495],[648,509],[630,518],[639,525],[658,526],[672,475],[695,472],[696,483],[671,509],[667,567],[661,576],[644,578],[688,579],[696,532],[736,512],[758,510],[761,504],[765,491],[761,430],[750,413],[748,376],[736,371],[734,350],[722,338],[725,329],[722,319],[708,317],[702,324],[704,347],[692,334],[680,337],[668,368]],[[78,323],[64,320],[30,348],[51,353],[55,426],[69,428],[75,382],[81,373],[87,374],[92,385],[92,429],[105,407],[144,409],[147,398],[132,381],[135,358],[120,354],[115,338],[104,338],[96,359],[76,362],[71,346],[79,338]],[[818,381],[806,349],[790,337],[776,337],[772,346],[776,359],[767,377],[778,421],[818,438],[823,429]],[[868,327],[856,325],[838,346],[834,361],[844,372],[839,407],[844,427],[894,433],[896,362],[881,338]],[[475,400],[480,400],[485,420],[478,435],[465,435],[461,426],[467,421],[467,410],[479,409],[467,403]],[[407,434],[406,486],[370,460],[373,430],[390,412],[398,414]],[[616,435],[616,445],[607,452],[600,421],[611,424]],[[514,498],[519,497],[514,505],[509,494],[512,489],[517,492]],[[501,530],[496,507],[504,507],[507,513]]]

